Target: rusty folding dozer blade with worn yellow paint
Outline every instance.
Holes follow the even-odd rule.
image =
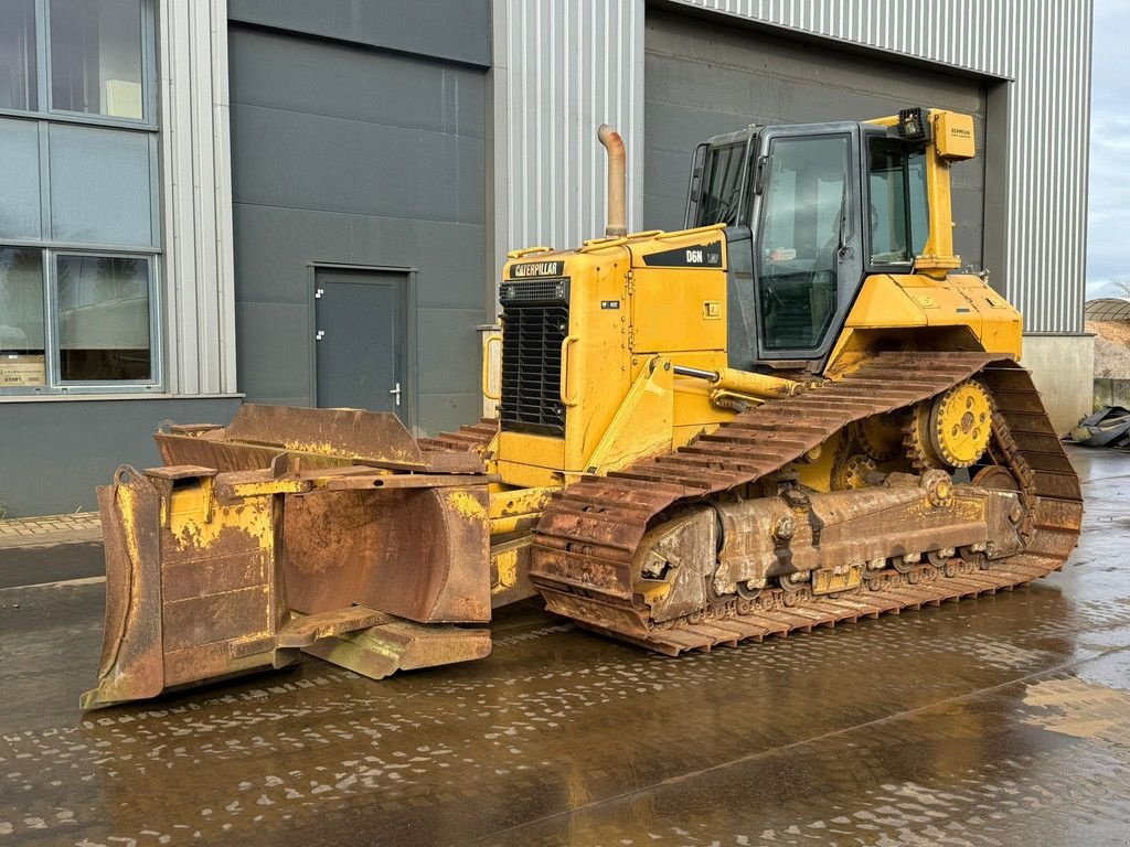
[[[252,404],[157,440],[165,466],[98,489],[106,625],[82,708],[301,652],[374,679],[490,652],[457,626],[490,617],[480,457],[421,451],[392,414]]]

